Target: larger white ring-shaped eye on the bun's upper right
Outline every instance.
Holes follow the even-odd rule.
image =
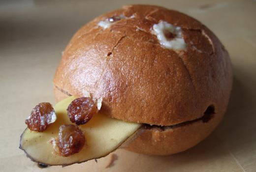
[[[168,40],[164,34],[166,31],[174,34],[174,38]],[[153,25],[152,33],[157,36],[163,47],[177,51],[186,50],[187,46],[182,36],[181,27],[175,27],[165,21],[160,21],[158,24]]]

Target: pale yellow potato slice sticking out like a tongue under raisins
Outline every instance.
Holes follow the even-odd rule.
[[[79,125],[84,131],[87,143],[79,153],[62,157],[54,153],[51,138],[57,137],[59,127],[70,122],[66,109],[75,97],[69,97],[55,106],[57,120],[44,132],[33,132],[26,129],[21,138],[21,148],[34,161],[48,165],[68,165],[85,162],[106,156],[125,142],[129,136],[138,130],[139,123],[125,122],[110,118],[103,114],[94,115],[84,125]]]

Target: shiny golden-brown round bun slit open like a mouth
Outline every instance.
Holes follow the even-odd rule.
[[[120,15],[127,18],[107,29],[97,26],[100,21]],[[160,20],[182,28],[186,51],[176,52],[159,44],[151,28]],[[97,17],[73,36],[56,71],[54,85],[57,100],[64,97],[62,94],[82,96],[88,91],[96,98],[103,97],[103,113],[154,125],[194,120],[213,106],[214,118],[203,125],[198,121],[164,132],[150,129],[128,148],[169,154],[193,146],[217,126],[227,107],[232,70],[222,43],[197,20],[158,6],[129,5]],[[197,138],[188,137],[183,130]],[[165,147],[162,153],[152,150],[156,148],[152,143],[156,135],[166,138],[160,142]],[[183,144],[178,146],[179,142]],[[172,148],[175,143],[178,147]],[[143,146],[147,150],[140,150],[143,144],[148,145]]]

